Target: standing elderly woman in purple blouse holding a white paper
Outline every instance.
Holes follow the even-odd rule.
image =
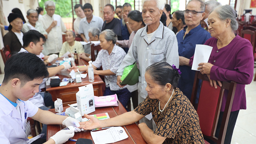
[[[237,82],[234,101],[228,121],[228,128],[224,144],[230,144],[234,126],[239,110],[246,109],[245,85],[250,84],[253,78],[254,57],[252,44],[234,32],[238,29],[236,12],[229,6],[220,6],[212,11],[208,17],[208,30],[212,36],[205,45],[212,46],[212,53],[208,63],[200,63],[198,70],[207,74],[211,86],[216,86],[216,81]],[[190,66],[193,57],[190,58]],[[228,92],[224,92],[220,117],[215,136],[218,137],[220,123],[225,108]]]

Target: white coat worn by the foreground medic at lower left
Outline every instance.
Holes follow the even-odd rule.
[[[30,101],[16,100],[19,107],[14,107],[2,94],[0,94],[0,142],[1,144],[27,144],[25,133],[25,112],[32,117],[38,108]]]

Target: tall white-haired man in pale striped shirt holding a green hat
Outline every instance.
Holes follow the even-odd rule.
[[[137,62],[140,76],[138,82],[138,103],[144,101],[148,92],[146,91],[145,70],[156,62],[168,62],[170,65],[179,66],[177,38],[166,26],[160,22],[164,8],[162,0],[145,0],[142,7],[142,18],[146,26],[139,29],[132,41],[132,45],[117,71],[117,84],[120,87],[120,78],[124,68]],[[150,118],[149,118],[150,119]],[[142,118],[151,130],[156,129],[152,119]]]

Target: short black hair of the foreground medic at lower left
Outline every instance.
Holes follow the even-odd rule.
[[[14,78],[20,79],[21,86],[34,79],[43,79],[49,76],[49,72],[38,56],[30,52],[12,54],[4,67],[3,84],[7,84]]]

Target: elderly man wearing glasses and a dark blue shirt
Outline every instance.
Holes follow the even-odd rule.
[[[177,34],[180,71],[182,72],[178,88],[191,98],[195,71],[189,66],[189,58],[194,55],[196,44],[204,44],[211,38],[210,33],[201,27],[200,21],[205,15],[205,4],[201,0],[190,0],[184,10],[187,26]]]

